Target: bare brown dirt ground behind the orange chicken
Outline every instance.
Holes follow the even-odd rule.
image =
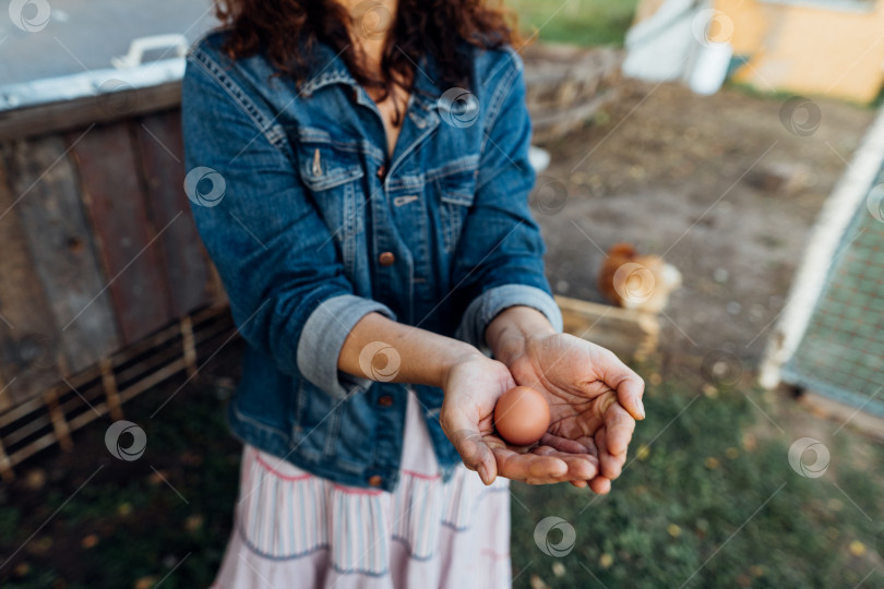
[[[789,117],[787,98],[626,81],[590,124],[545,145],[535,215],[553,290],[601,301],[602,250],[632,242],[684,277],[661,317],[664,358],[727,350],[756,362],[809,229],[874,117],[816,98]]]

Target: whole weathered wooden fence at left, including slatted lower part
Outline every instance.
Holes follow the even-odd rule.
[[[94,417],[119,419],[158,376],[192,374],[199,344],[230,328],[182,190],[179,96],[166,84],[0,116],[5,478]]]

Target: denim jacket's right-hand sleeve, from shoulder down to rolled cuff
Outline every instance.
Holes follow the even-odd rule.
[[[534,308],[562,330],[562,315],[543,273],[546,248],[531,217],[528,193],[535,172],[528,160],[531,124],[525,105],[523,64],[509,60],[493,68],[486,92],[488,119],[479,158],[473,208],[458,242],[453,292],[462,312],[458,338],[485,346],[485,330],[501,311]]]

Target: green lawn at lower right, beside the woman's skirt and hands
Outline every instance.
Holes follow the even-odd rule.
[[[881,446],[843,430],[826,442],[826,473],[804,478],[787,459],[802,434],[780,434],[742,394],[698,396],[674,419],[693,393],[676,385],[649,393],[634,441],[645,449],[633,456],[643,458],[631,458],[610,495],[514,485],[515,587],[831,588],[863,578],[867,589],[884,587],[882,478],[873,469],[884,464]],[[752,400],[784,420],[762,395]],[[860,447],[863,458],[852,459]],[[534,542],[548,516],[576,531],[561,558]]]

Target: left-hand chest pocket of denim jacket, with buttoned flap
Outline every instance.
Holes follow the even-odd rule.
[[[353,278],[357,236],[365,231],[360,180],[366,172],[359,153],[331,142],[300,137],[297,154],[301,182],[313,196],[339,249],[345,274]]]

